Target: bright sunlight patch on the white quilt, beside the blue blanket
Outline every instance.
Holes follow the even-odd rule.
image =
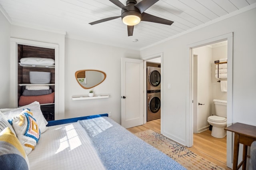
[[[64,130],[66,131],[66,136],[64,136],[63,138],[60,139],[60,147],[56,151],[56,154],[66,148],[73,150],[82,144],[82,142],[76,132],[76,129],[74,128],[74,126],[72,124],[65,126]]]

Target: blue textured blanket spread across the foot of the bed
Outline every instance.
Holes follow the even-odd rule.
[[[78,121],[107,170],[184,170],[178,162],[108,117]]]

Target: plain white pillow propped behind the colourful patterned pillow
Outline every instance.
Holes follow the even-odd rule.
[[[12,119],[12,117],[19,115],[24,109],[27,108],[30,109],[30,111],[33,113],[33,117],[36,119],[36,122],[38,123],[41,133],[45,132],[47,130],[46,125],[48,124],[48,122],[44,118],[38,101],[34,101],[29,105],[25,105],[22,107],[18,107],[16,109],[3,112],[3,114],[7,119]]]

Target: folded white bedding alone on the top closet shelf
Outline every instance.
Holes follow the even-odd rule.
[[[54,65],[55,61],[50,58],[26,57],[20,59],[20,63],[31,65]]]

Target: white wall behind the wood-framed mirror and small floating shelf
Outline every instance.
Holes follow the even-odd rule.
[[[112,112],[112,119],[121,123],[121,57],[140,58],[140,52],[120,47],[84,42],[66,38],[65,44],[65,118]],[[110,95],[107,99],[76,100],[74,95],[86,95],[75,79],[75,72],[97,69],[106,73],[106,79],[92,88],[94,95]]]

